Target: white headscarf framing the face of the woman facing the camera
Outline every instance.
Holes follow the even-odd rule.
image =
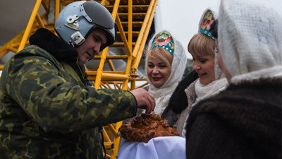
[[[169,33],[166,30],[163,30],[161,32],[164,31]],[[152,39],[149,40],[147,51],[149,51],[149,49],[151,48],[154,37],[156,37],[156,35],[158,35],[159,33],[155,33],[152,36]],[[164,83],[164,86],[161,86],[161,88],[154,87],[152,82],[149,81],[148,73],[146,71],[146,77],[149,82],[149,92],[154,95],[154,98],[156,100],[156,107],[153,112],[156,114],[161,114],[162,112],[164,112],[164,109],[167,107],[168,101],[171,98],[173,91],[176,89],[176,86],[178,86],[178,82],[181,80],[183,76],[186,66],[187,57],[183,45],[181,45],[181,43],[178,40],[176,40],[175,37],[173,37],[173,41],[174,41],[174,53],[173,53],[173,61],[171,64],[171,74],[169,75],[166,83]],[[146,56],[145,68],[147,68],[147,66],[148,66],[148,54]]]

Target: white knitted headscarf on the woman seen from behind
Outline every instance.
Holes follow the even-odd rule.
[[[231,83],[282,77],[282,17],[250,0],[221,0],[219,49]]]

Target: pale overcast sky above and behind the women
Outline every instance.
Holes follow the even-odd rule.
[[[226,0],[228,1],[228,0]],[[250,0],[246,0],[250,1]],[[281,0],[254,0],[274,8],[282,15]],[[218,13],[220,0],[159,0],[155,15],[156,32],[168,30],[182,44],[188,54],[187,46],[191,37],[198,31],[202,13],[211,8]]]

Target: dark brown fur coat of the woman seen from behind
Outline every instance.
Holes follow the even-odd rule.
[[[281,78],[261,78],[201,100],[185,128],[187,156],[281,158],[281,89]]]

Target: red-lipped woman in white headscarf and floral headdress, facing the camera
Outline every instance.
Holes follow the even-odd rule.
[[[146,76],[149,93],[154,95],[155,114],[162,114],[171,94],[185,71],[187,57],[181,43],[171,33],[163,30],[149,40],[146,52]]]

